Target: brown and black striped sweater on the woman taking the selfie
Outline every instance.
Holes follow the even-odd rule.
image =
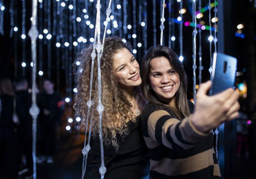
[[[193,112],[193,103],[189,109]],[[151,179],[219,179],[213,134],[198,131],[191,116],[179,121],[164,107],[149,104],[141,128],[150,152]]]

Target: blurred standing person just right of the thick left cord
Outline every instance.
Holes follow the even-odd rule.
[[[41,135],[44,143],[44,154],[38,158],[38,163],[46,160],[53,163],[53,155],[56,148],[56,128],[58,128],[64,111],[64,101],[61,96],[54,91],[54,82],[50,79],[43,81],[44,92],[41,97],[46,102],[41,120]]]

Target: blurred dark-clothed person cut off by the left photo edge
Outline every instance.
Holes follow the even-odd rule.
[[[24,119],[23,106],[15,96],[11,80],[0,80],[0,178],[16,179],[18,128]]]

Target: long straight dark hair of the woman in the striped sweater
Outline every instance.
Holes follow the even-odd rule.
[[[175,94],[175,104],[177,108],[174,106],[168,105],[166,102],[160,101],[157,98],[156,94],[150,87],[150,61],[156,57],[166,57],[172,68],[175,69],[176,73],[180,77],[180,88],[178,89],[177,93]],[[151,47],[148,49],[146,54],[142,60],[142,93],[144,97],[153,104],[160,104],[168,107],[171,111],[173,111],[175,117],[178,119],[183,119],[186,116],[189,116],[189,105],[187,102],[187,75],[183,68],[182,63],[180,62],[177,54],[169,47],[164,45],[157,45],[155,47]]]

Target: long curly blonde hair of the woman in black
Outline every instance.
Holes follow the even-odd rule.
[[[129,134],[127,119],[136,122],[135,116],[131,111],[132,104],[126,98],[125,92],[120,88],[118,79],[113,69],[113,56],[127,48],[131,51],[128,43],[122,42],[119,37],[110,37],[105,39],[104,51],[101,58],[101,75],[102,75],[102,104],[104,111],[102,114],[102,136],[105,145],[113,146],[118,149],[117,135],[125,137]],[[76,70],[76,82],[78,93],[75,95],[74,108],[77,115],[81,115],[83,119],[87,117],[87,101],[89,100],[90,91],[90,72],[92,58],[90,57],[93,51],[93,45],[83,49],[77,55],[77,60],[81,63],[79,69]],[[76,63],[76,62],[75,62]],[[93,136],[99,135],[99,114],[96,111],[98,105],[98,75],[97,75],[97,57],[95,58],[93,68],[93,85],[91,99],[95,106],[90,115],[93,116],[92,121],[92,134]],[[144,106],[144,100],[141,94],[140,87],[134,88],[134,97],[139,101],[139,108]],[[83,120],[83,125],[85,120]]]

